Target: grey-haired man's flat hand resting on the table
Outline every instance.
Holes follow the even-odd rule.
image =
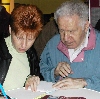
[[[84,79],[66,78],[58,81],[53,87],[57,89],[83,88],[87,85]]]

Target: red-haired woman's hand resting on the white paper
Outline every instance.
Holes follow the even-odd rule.
[[[36,91],[39,82],[40,78],[38,76],[29,76],[25,83],[25,89],[27,90],[28,87],[30,86],[32,91]]]

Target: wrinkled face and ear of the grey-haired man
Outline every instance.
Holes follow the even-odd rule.
[[[68,49],[75,49],[79,47],[86,36],[89,23],[87,22],[82,28],[82,26],[79,25],[80,21],[77,15],[73,15],[72,17],[59,17],[57,22],[61,41],[65,44],[65,46]]]

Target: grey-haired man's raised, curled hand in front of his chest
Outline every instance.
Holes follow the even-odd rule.
[[[70,65],[66,62],[60,62],[54,71],[56,76],[60,75],[62,77],[66,77],[70,73],[72,74],[73,72],[70,68]]]

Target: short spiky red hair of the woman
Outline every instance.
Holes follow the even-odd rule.
[[[43,14],[35,5],[20,4],[11,13],[10,26],[16,35],[23,31],[37,37],[42,30]]]

